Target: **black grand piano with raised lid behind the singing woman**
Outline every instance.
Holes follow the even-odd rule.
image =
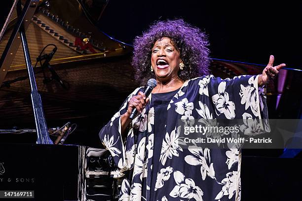
[[[25,1],[21,2],[24,6]],[[77,127],[66,139],[67,145],[36,144],[27,67],[22,45],[16,47],[11,63],[0,68],[0,130],[11,131],[0,132],[0,191],[32,190],[37,201],[114,200],[119,181],[110,177],[110,155],[97,133],[138,86],[130,65],[132,46],[99,30],[98,19],[108,0],[96,1],[95,6],[84,0],[36,2],[26,30],[33,66],[39,56],[53,51],[54,46],[48,44],[57,47],[49,61],[52,71],[39,62],[34,68],[47,131],[54,142],[57,136],[51,134],[52,128],[68,121]],[[16,23],[17,11],[12,9],[1,32],[1,55]],[[228,78],[259,74],[264,67],[213,59],[210,68],[213,75]],[[301,72],[288,69],[269,83],[270,117],[300,118],[301,76]],[[28,132],[16,132],[24,128]],[[291,200],[298,198],[302,157],[280,158],[282,154],[283,150],[243,150],[243,201],[288,200],[289,195]],[[293,182],[293,177],[298,179]],[[264,194],[260,195],[261,191]]]

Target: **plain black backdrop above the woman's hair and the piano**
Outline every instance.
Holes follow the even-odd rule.
[[[265,3],[264,3],[265,2]],[[12,0],[1,1],[0,24]],[[302,1],[109,0],[100,30],[132,44],[155,20],[183,18],[209,35],[211,57],[302,69]]]

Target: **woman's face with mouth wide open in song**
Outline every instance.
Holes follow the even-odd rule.
[[[169,81],[178,77],[180,63],[180,54],[169,38],[163,37],[154,43],[151,65],[157,80]]]

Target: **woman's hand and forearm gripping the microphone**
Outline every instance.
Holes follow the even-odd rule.
[[[136,96],[132,96],[129,101],[128,109],[125,114],[121,116],[121,133],[125,131],[131,120],[129,119],[131,112],[134,108],[137,109],[139,113],[143,112],[146,104],[149,102],[149,97],[146,98],[143,92],[139,92]]]

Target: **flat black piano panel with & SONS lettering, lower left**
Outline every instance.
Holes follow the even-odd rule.
[[[76,145],[0,144],[0,190],[34,191],[35,199],[28,200],[78,200],[78,150]]]

